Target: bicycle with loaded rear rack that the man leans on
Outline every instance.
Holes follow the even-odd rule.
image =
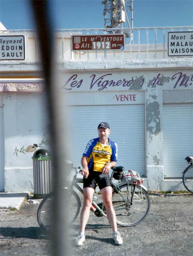
[[[131,172],[131,180],[128,182],[122,182],[121,175],[124,167],[117,166],[112,168],[110,175],[111,187],[113,192],[112,202],[116,213],[116,222],[123,227],[133,227],[139,224],[145,219],[150,210],[150,198],[147,189],[142,185],[143,180],[140,178],[135,180]],[[68,220],[69,223],[73,223],[80,211],[81,200],[79,194],[83,194],[81,184],[83,183],[82,178],[78,178],[82,170],[79,168],[73,168],[73,178],[71,179],[68,188]],[[98,186],[95,189],[93,197],[91,211],[97,217],[106,215],[106,210],[102,201],[102,196]],[[44,231],[51,230],[50,215],[52,208],[52,202],[54,200],[54,192],[46,195],[40,203],[37,210],[37,221],[40,227]]]

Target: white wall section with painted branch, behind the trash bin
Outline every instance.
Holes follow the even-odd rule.
[[[33,191],[34,152],[30,145],[48,148],[48,110],[45,93],[4,94],[5,191]],[[44,141],[42,141],[44,140]]]

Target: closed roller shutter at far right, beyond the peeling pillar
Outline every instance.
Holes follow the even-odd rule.
[[[163,116],[164,177],[182,178],[184,158],[193,155],[193,104],[165,104]]]

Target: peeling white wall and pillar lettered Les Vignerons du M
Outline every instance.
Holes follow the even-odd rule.
[[[95,101],[99,99],[101,104],[102,95],[109,96],[114,95],[119,91],[119,95],[126,96],[128,92],[134,92],[136,99],[138,99],[138,93],[145,92],[145,174],[148,189],[150,190],[167,190],[177,189],[184,190],[182,183],[177,180],[165,180],[164,179],[164,164],[163,164],[163,104],[167,103],[191,103],[193,102],[193,73],[192,69],[171,69],[166,70],[132,70],[130,72],[126,70],[92,70],[87,72],[80,71],[65,71],[61,74],[63,89],[67,94],[68,101],[73,105],[82,104],[84,99],[85,105],[92,105],[93,98],[90,97],[89,101],[88,93],[91,96],[94,92],[98,92],[95,95]],[[70,92],[70,93],[69,93]],[[73,92],[76,98],[73,96]],[[115,96],[113,96],[116,99]],[[116,102],[116,100],[106,101],[106,104],[128,104],[124,102]],[[136,102],[130,102],[129,104],[138,104]],[[183,170],[186,163],[183,162],[184,155],[182,157],[182,164],[180,167]],[[179,178],[181,176],[178,176]],[[178,184],[178,185],[171,185]]]

